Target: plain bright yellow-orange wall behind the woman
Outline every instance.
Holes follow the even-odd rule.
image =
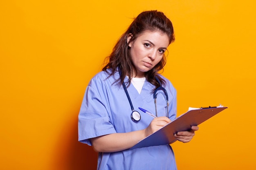
[[[177,112],[229,107],[173,144],[179,170],[256,169],[254,0],[1,0],[0,169],[82,170],[97,153],[77,141],[90,78],[141,11],[172,20],[164,75]]]

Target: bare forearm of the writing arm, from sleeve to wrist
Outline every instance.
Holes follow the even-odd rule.
[[[145,137],[145,130],[137,130],[95,137],[91,139],[91,142],[96,152],[117,152],[131,148]]]

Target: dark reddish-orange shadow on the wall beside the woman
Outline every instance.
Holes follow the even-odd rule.
[[[58,138],[54,170],[96,170],[98,153],[78,141],[77,117],[69,121]],[[67,141],[64,141],[67,140]]]

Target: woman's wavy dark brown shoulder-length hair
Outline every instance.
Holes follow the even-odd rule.
[[[117,69],[121,69],[121,77],[117,79],[119,84],[122,84],[125,76],[128,75],[128,85],[130,85],[130,80],[133,75],[132,68],[135,68],[135,66],[130,58],[130,47],[128,44],[136,40],[136,38],[144,31],[160,31],[165,33],[169,38],[169,44],[175,40],[173,25],[164,13],[159,11],[144,11],[140,13],[130,24],[127,31],[121,35],[117,44],[114,46],[112,53],[105,60],[108,60],[108,63],[102,69],[109,73],[110,76],[114,75]],[[127,37],[129,34],[132,34],[133,36],[130,42],[127,43]],[[155,80],[155,76],[157,76],[161,83],[165,83],[164,80],[157,75],[157,72],[162,70],[165,64],[166,56],[163,55],[162,60],[154,68],[145,73],[147,81],[155,85],[156,88],[159,87],[160,84]]]

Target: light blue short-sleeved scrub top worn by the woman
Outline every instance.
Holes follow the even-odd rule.
[[[79,112],[78,133],[79,141],[91,146],[90,138],[112,133],[131,132],[146,128],[153,117],[143,113],[138,107],[155,113],[152,84],[145,80],[141,93],[130,84],[127,87],[132,105],[141,119],[132,121],[129,101],[123,86],[117,85],[119,73],[109,75],[101,71],[89,82],[81,109]],[[162,75],[160,75],[162,76]],[[164,77],[162,77],[164,78]],[[166,81],[168,93],[168,112],[171,120],[176,117],[176,90],[171,82]],[[126,77],[125,82],[128,81]],[[161,93],[161,91],[159,91]],[[166,115],[166,100],[164,95],[157,95],[157,115]],[[117,139],[118,140],[118,139]],[[150,146],[119,152],[100,152],[98,157],[98,170],[176,170],[176,163],[171,146]]]

